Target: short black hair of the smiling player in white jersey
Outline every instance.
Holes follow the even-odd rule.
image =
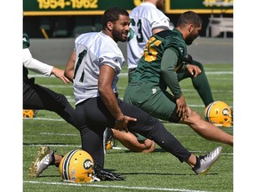
[[[121,7],[110,7],[102,16],[102,29],[107,28],[108,21],[115,22],[119,19],[119,15],[126,15],[129,17],[129,13]]]

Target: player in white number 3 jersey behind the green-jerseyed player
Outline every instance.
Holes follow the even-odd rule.
[[[139,6],[135,7],[129,13],[130,36],[127,41],[127,64],[129,69],[129,82],[132,79],[132,74],[138,66],[138,62],[143,54],[146,44],[150,36],[164,30],[173,29],[173,25],[169,18],[164,15],[164,0],[145,0]],[[200,68],[200,76],[192,76],[188,71],[178,74],[178,81],[190,77],[192,84],[204,101],[204,106],[212,103],[212,91],[204,73],[204,67],[201,63],[193,60],[190,55],[186,55],[186,63],[196,65]]]

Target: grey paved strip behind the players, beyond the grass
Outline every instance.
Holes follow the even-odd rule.
[[[30,39],[30,52],[37,60],[52,65],[66,65],[74,48],[74,41],[75,38]],[[126,60],[126,43],[118,44]],[[203,64],[233,64],[233,38],[198,37],[188,46],[188,53]]]

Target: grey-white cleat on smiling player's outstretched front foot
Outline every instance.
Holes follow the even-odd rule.
[[[205,156],[196,156],[199,164],[196,163],[196,166],[193,167],[192,170],[196,172],[196,174],[207,174],[212,167],[212,164],[214,164],[220,157],[221,149],[221,147],[218,147]]]

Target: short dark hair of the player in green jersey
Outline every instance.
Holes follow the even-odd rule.
[[[180,15],[180,18],[177,22],[177,27],[184,26],[189,23],[193,23],[198,28],[203,23],[203,20],[196,12],[192,12],[192,11],[183,12]]]

